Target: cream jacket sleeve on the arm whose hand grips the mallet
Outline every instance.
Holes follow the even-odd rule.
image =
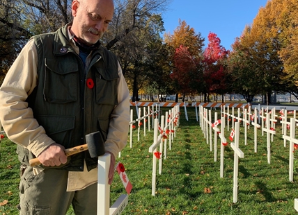
[[[38,156],[54,141],[39,126],[26,98],[38,82],[37,51],[30,40],[10,67],[0,87],[0,121],[7,137]]]

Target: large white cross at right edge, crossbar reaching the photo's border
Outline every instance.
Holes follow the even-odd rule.
[[[293,181],[293,171],[294,171],[294,144],[298,144],[298,139],[295,138],[295,119],[290,119],[290,136],[283,135],[283,139],[290,141],[290,158],[289,158],[289,180]]]

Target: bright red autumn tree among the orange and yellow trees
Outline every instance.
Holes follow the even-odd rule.
[[[221,46],[221,40],[215,33],[209,33],[208,46],[204,52],[203,79],[205,88],[203,90],[204,101],[207,101],[207,94],[221,94],[227,91],[225,61],[229,51]]]

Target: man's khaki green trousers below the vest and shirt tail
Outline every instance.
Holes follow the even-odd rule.
[[[26,169],[19,183],[21,215],[65,215],[70,204],[76,215],[97,213],[97,183],[80,191],[67,192],[68,171],[45,169],[33,175]]]

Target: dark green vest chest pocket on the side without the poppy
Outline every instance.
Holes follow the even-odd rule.
[[[68,63],[63,63],[63,61]],[[70,60],[45,58],[45,80],[43,80],[45,100],[49,103],[77,101],[78,70],[77,64]]]

